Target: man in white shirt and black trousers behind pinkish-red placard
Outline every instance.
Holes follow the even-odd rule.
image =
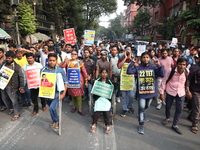
[[[26,79],[26,86],[28,86],[29,79],[27,78],[26,72],[29,70],[36,70],[38,72],[38,77],[40,76],[40,70],[42,69],[42,65],[38,62],[35,62],[35,55],[33,53],[27,53],[26,54],[26,59],[28,61],[28,64],[26,64],[22,71],[24,74],[24,78]],[[37,74],[36,74],[37,75]],[[39,79],[38,79],[39,80]],[[33,108],[33,113],[31,116],[34,116],[38,113],[38,93],[39,93],[39,87],[31,88],[30,89],[30,95],[31,95],[31,100],[33,102],[34,108]],[[41,98],[41,104],[42,104],[42,110],[47,111],[46,108],[46,100],[44,98]]]

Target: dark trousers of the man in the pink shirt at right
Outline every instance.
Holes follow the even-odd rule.
[[[185,100],[185,96],[179,97],[178,94],[176,96],[169,95],[166,93],[166,106],[165,106],[165,115],[166,119],[170,118],[170,109],[173,104],[173,101],[176,101],[176,109],[174,114],[173,126],[178,125],[178,121],[183,110],[183,104]]]

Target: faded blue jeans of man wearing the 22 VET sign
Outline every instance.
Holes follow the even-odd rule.
[[[138,100],[139,125],[144,125],[145,111],[149,108],[151,102],[152,102],[152,98],[149,98],[149,99],[139,98]]]

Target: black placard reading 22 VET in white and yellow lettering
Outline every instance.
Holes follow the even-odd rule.
[[[139,94],[155,93],[154,77],[153,70],[138,71]]]

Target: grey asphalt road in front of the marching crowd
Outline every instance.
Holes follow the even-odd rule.
[[[145,123],[145,134],[137,133],[137,113],[120,117],[121,103],[117,104],[112,132],[105,134],[105,127],[100,118],[95,133],[89,132],[91,117],[87,102],[83,109],[87,116],[70,112],[71,106],[63,101],[62,135],[49,127],[49,112],[42,112],[31,117],[32,107],[21,109],[21,117],[10,121],[8,110],[0,113],[0,150],[199,150],[200,133],[190,131],[191,122],[186,120],[187,110],[184,109],[179,122],[183,135],[175,133],[168,126],[161,124],[164,119],[164,107],[156,110],[153,101],[146,116],[150,119]],[[137,101],[134,101],[137,112]],[[174,114],[174,106],[172,107]],[[171,118],[172,120],[172,118]]]

